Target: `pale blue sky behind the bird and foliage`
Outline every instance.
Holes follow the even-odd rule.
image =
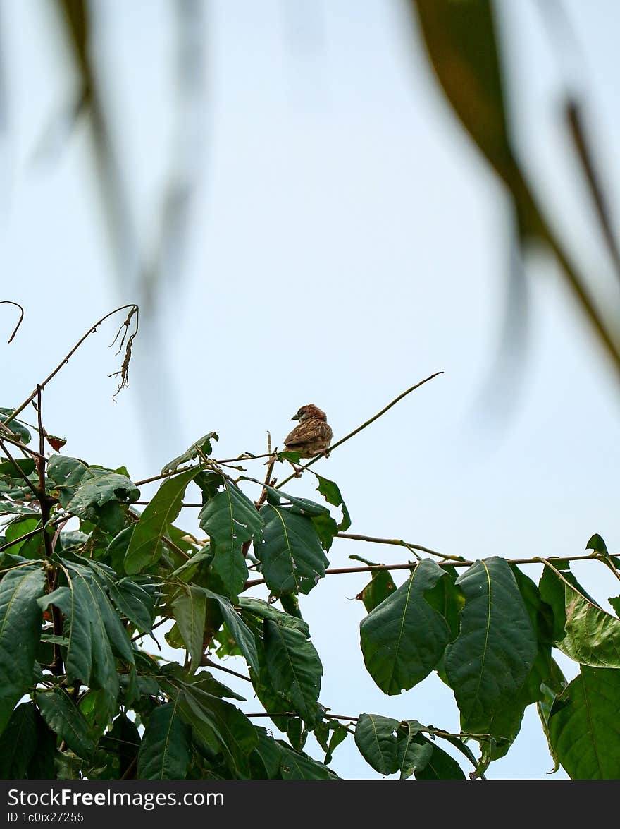
[[[185,257],[142,307],[129,390],[111,399],[114,321],[46,390],[46,427],[68,439],[65,453],[124,464],[138,480],[211,430],[220,458],[266,451],[267,430],[281,447],[291,415],[309,402],[327,412],[336,440],[444,371],[316,465],[339,483],[350,531],[468,559],[577,555],[594,532],[618,550],[618,377],[542,255],[527,261],[524,350],[512,369],[495,370],[507,201],[440,96],[405,2],[205,0],[202,104],[185,142],[175,134],[170,4],[95,6],[94,49],[144,255],[156,250],[171,158],[195,201]],[[620,8],[564,6],[579,50],[558,53],[534,0],[498,3],[512,121],[555,226],[605,280],[611,268],[560,99],[567,84],[584,95],[618,215]],[[137,299],[131,263],[119,273],[110,253],[88,124],[66,129],[76,79],[52,12],[45,0],[7,0],[0,18],[0,269],[5,298],[26,310],[3,360],[6,406],[26,398],[97,318]],[[12,330],[9,306],[2,324]],[[264,474],[260,462],[255,474]],[[313,497],[312,479],[293,487]],[[177,523],[195,530],[195,512]],[[336,540],[329,558],[393,563],[405,553]],[[618,593],[602,566],[574,571],[603,606]],[[329,576],[301,600],[324,663],[320,700],[335,714],[458,731],[453,693],[439,680],[387,697],[365,671],[365,612],[354,597],[366,576]],[[559,662],[574,676],[574,664]],[[241,705],[260,710],[252,698]],[[307,750],[322,759],[310,741]],[[530,708],[488,777],[550,779],[552,765]],[[377,778],[350,738],[333,768]]]

